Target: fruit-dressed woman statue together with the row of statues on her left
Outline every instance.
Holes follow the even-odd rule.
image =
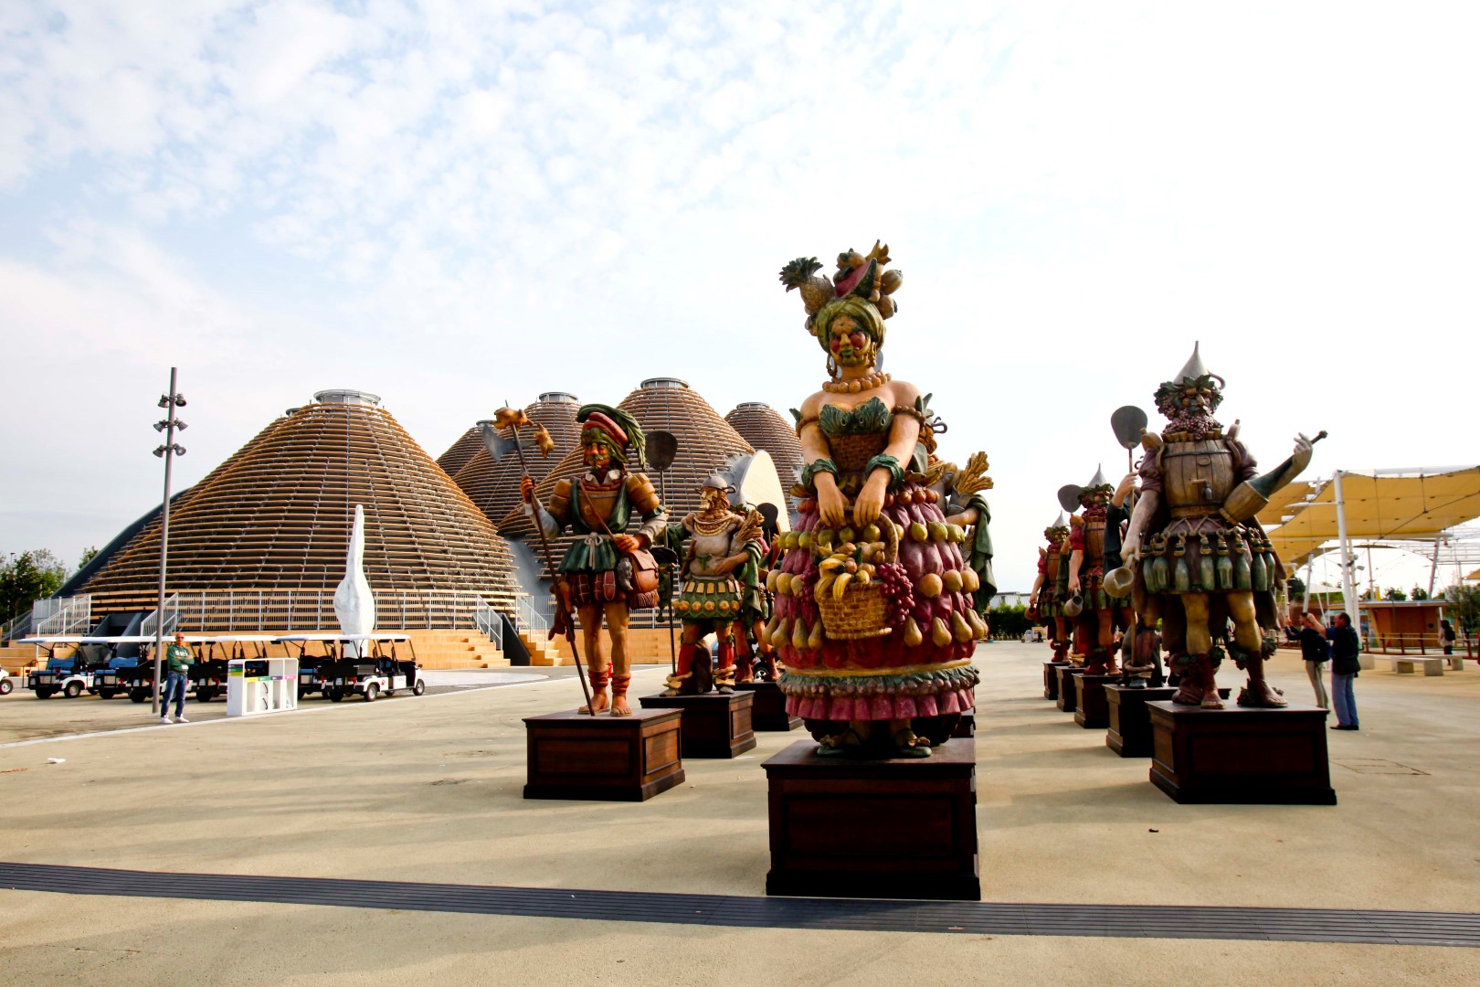
[[[790,531],[768,525],[761,505],[731,505],[718,474],[700,509],[670,521],[641,472],[641,426],[608,405],[576,416],[580,476],[555,484],[548,505],[524,479],[542,539],[577,536],[554,570],[559,610],[582,627],[592,687],[582,712],[630,715],[629,614],[659,602],[654,555],[669,552],[681,559],[672,610],[682,623],[669,694],[733,688],[743,653],[778,679],[787,713],[827,755],[928,756],[972,709],[971,657],[996,592],[983,496],[992,479],[983,453],[963,468],[937,457],[944,425],[931,395],[879,368],[903,281],[888,263],[876,243],[867,255],[842,252],[830,278],[817,275],[815,257],[781,271],[829,370],[793,410],[805,466]]]

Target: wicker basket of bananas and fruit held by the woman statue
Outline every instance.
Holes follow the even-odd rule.
[[[879,542],[844,542],[818,549],[818,579],[813,598],[823,619],[823,633],[832,641],[882,638],[889,626],[888,580],[900,579],[900,534],[888,518],[879,518]]]

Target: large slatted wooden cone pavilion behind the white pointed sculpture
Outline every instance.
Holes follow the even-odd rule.
[[[380,627],[450,626],[475,596],[512,611],[509,546],[379,402],[318,392],[172,508],[167,592],[192,611],[191,624],[334,629],[355,505],[366,509],[364,568]],[[95,613],[152,610],[158,565],[155,519],[81,592]],[[252,607],[287,607],[286,621]]]

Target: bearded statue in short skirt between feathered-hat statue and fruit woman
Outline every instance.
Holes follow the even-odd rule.
[[[694,658],[710,633],[719,635],[715,691],[730,693],[734,688],[736,623],[746,616],[747,590],[740,574],[746,567],[755,571],[765,543],[761,539],[761,513],[749,511],[740,516],[731,511],[731,490],[724,476],[713,474],[699,491],[699,511],[667,527],[669,545],[688,545],[682,556],[684,589],[673,604],[684,623],[684,644],[678,667],[667,676],[665,695],[709,691],[707,684],[694,678]]]

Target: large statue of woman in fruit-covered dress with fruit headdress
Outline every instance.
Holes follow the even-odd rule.
[[[971,656],[986,623],[972,593],[992,589],[929,488],[938,422],[928,395],[878,367],[901,283],[888,262],[875,244],[839,255],[832,280],[814,277],[814,257],[781,271],[832,379],[793,411],[807,493],[770,577],[767,630],[786,666],[786,709],[820,753],[922,758],[974,704]],[[986,513],[972,516],[986,536]]]

